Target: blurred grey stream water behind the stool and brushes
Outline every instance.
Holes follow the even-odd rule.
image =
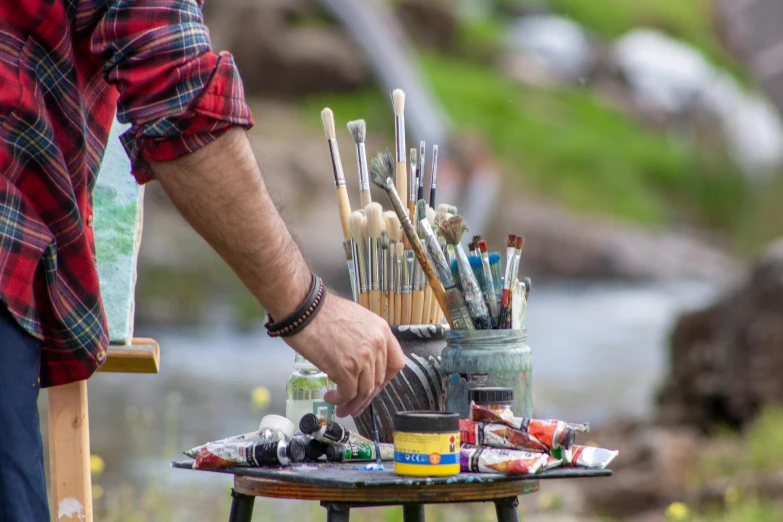
[[[716,292],[701,283],[534,286],[527,326],[536,415],[595,425],[651,416],[674,318]],[[96,374],[89,382],[92,453],[106,462],[100,483],[195,482],[222,494],[227,477],[173,471],[168,462],[188,447],[256,429],[264,413],[282,414],[293,351],[263,329],[224,324],[139,328],[136,335],[160,342],[161,373]],[[251,402],[259,386],[270,392],[265,411]]]

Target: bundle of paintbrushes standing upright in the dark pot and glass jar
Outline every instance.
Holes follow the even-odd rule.
[[[518,279],[523,239],[509,236],[505,271],[500,254],[488,252],[481,236],[470,254],[461,245],[468,227],[457,209],[435,210],[438,146],[432,147],[429,202],[424,199],[427,148],[405,147],[405,94],[392,93],[395,154],[378,153],[368,164],[363,120],[348,123],[356,143],[362,208],[348,201],[337,148],[334,115],[321,112],[337,189],[343,246],[354,301],[391,325],[441,323],[455,330],[520,329],[524,325],[530,279]],[[388,195],[393,208],[372,201],[370,181]]]

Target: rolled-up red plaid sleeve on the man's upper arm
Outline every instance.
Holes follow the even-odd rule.
[[[253,125],[233,57],[214,54],[198,0],[114,0],[95,27],[93,53],[119,91],[121,139],[139,183],[151,162],[178,158],[229,128]]]

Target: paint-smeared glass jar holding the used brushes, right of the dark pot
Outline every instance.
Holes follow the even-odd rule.
[[[448,330],[440,369],[444,411],[467,418],[470,390],[499,387],[514,390],[515,416],[533,416],[533,352],[527,330]]]

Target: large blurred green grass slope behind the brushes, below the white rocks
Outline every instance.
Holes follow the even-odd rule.
[[[455,125],[480,133],[520,189],[577,212],[652,226],[728,228],[745,208],[744,182],[720,151],[705,156],[647,130],[590,91],[522,87],[456,58],[428,55],[422,66]],[[340,120],[364,117],[391,143],[391,109],[381,93],[318,97],[304,110],[324,105]]]

